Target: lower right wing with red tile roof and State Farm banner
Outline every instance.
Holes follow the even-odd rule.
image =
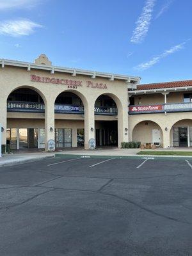
[[[129,92],[129,140],[192,146],[192,81],[140,84]]]

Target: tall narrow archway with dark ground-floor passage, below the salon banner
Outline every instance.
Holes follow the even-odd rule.
[[[118,147],[118,108],[111,95],[102,94],[95,100],[96,147]]]

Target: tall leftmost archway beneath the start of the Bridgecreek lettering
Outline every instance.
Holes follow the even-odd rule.
[[[7,98],[6,145],[11,150],[45,147],[44,95],[22,86]]]

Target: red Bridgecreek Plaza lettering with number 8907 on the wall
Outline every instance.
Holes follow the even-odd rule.
[[[31,75],[31,81],[37,83],[51,83],[51,84],[65,84],[68,88],[77,89],[78,87],[83,86],[83,81],[77,81],[72,79],[60,79],[54,77],[42,77]],[[93,83],[92,81],[86,81],[86,87],[88,88],[99,88],[99,89],[108,89],[107,84],[105,83]]]

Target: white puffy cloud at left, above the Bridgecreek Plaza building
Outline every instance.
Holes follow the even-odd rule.
[[[31,20],[7,20],[0,22],[0,35],[28,36],[35,32],[35,28],[42,28],[42,26]]]

